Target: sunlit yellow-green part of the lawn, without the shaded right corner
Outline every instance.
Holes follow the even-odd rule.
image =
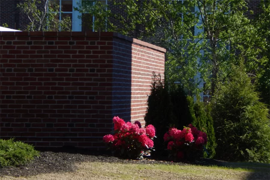
[[[91,173],[111,179],[249,179],[256,172],[261,173],[254,169],[199,165],[90,163],[86,166]]]

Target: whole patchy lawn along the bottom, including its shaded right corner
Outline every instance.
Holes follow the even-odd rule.
[[[248,163],[242,163],[241,166]],[[250,165],[250,164],[249,164]],[[259,164],[258,164],[259,165]],[[3,179],[91,179],[91,180],[131,180],[131,179],[269,179],[269,165],[240,167],[217,167],[217,166],[199,166],[199,165],[179,165],[167,162],[167,164],[138,164],[138,163],[101,163],[86,162],[76,164],[76,172],[65,173],[45,173],[28,177],[10,177]],[[259,167],[259,168],[258,168]]]

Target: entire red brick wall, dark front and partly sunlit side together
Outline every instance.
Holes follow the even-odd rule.
[[[1,32],[1,138],[99,149],[140,120],[165,49],[112,32]]]

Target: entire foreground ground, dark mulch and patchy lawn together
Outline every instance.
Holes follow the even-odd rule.
[[[208,166],[147,159],[136,161],[64,152],[41,152],[40,157],[26,166],[1,168],[0,179],[270,179],[268,165],[253,168],[253,165],[249,164],[248,169],[232,169],[211,167],[209,166],[211,164],[205,161],[197,163]]]

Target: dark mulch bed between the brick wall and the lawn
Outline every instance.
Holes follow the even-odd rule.
[[[106,155],[85,155],[78,153],[69,152],[41,152],[40,157],[35,157],[35,159],[24,166],[20,167],[4,167],[0,168],[0,177],[3,176],[33,176],[42,173],[60,173],[60,172],[72,172],[76,171],[77,168],[75,163],[82,162],[107,162],[107,163],[122,163],[122,164],[177,164],[177,165],[189,165],[189,164],[199,164],[199,165],[217,165],[226,166],[225,161],[217,161],[212,159],[200,159],[200,161],[193,162],[172,162],[164,161],[164,159],[152,160],[130,160],[121,159]],[[260,179],[261,177],[269,176],[269,173],[256,173],[253,175],[252,179]]]

